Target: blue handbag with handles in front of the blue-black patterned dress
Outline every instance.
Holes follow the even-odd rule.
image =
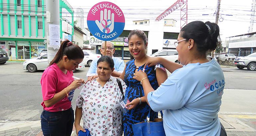
[[[162,115],[161,111],[161,115]],[[150,109],[147,119],[132,125],[133,134],[135,136],[166,136],[162,118],[155,118],[154,121],[149,121]]]

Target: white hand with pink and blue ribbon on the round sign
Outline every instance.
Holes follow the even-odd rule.
[[[104,15],[104,17],[103,17]],[[111,18],[110,18],[111,15]],[[111,33],[114,30],[114,13],[111,14],[111,11],[104,9],[100,11],[100,21],[95,20],[96,25],[99,30],[103,33]]]

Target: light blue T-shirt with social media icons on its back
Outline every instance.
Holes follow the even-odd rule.
[[[163,110],[167,136],[219,136],[224,86],[223,72],[212,59],[175,70],[147,98],[154,111]]]

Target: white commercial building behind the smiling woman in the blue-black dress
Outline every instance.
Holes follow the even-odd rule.
[[[121,59],[130,59],[128,48],[128,35],[132,30],[142,30],[148,38],[147,54],[152,54],[163,49],[175,49],[174,42],[177,41],[180,27],[176,27],[175,20],[139,20],[133,21],[132,24],[125,24],[123,33],[116,39],[112,40],[115,46],[115,57]],[[101,40],[90,36],[90,45],[96,46],[96,53],[100,54],[99,49]]]

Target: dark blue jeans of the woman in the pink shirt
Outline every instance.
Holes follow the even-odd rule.
[[[43,110],[41,127],[44,136],[70,136],[74,123],[74,110],[51,112]]]

